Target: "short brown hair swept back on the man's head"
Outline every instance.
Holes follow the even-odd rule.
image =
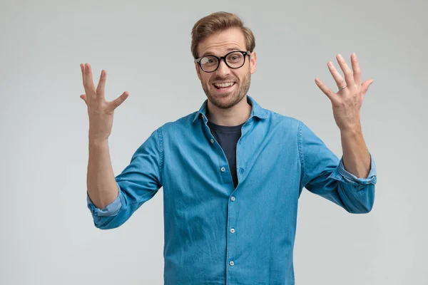
[[[191,51],[193,58],[198,58],[198,43],[208,36],[219,31],[225,31],[228,28],[240,28],[245,37],[245,47],[247,51],[253,51],[255,48],[255,38],[250,28],[244,26],[243,21],[236,14],[228,12],[215,12],[203,17],[196,22],[192,28]]]

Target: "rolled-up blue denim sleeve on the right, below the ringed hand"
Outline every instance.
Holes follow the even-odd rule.
[[[299,124],[298,143],[301,164],[300,189],[305,187],[353,214],[363,214],[372,210],[377,170],[371,152],[369,152],[369,175],[359,178],[345,170],[343,156],[339,160],[302,122]]]

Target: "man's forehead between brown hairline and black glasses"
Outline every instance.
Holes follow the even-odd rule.
[[[231,50],[245,51],[245,36],[239,28],[213,33],[198,43],[198,56],[223,56]]]

